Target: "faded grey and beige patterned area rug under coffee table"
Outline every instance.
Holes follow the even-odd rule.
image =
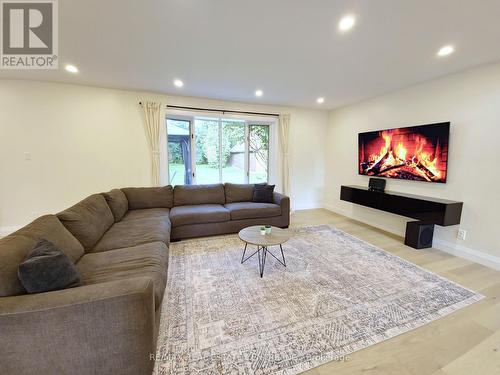
[[[291,230],[262,279],[237,235],[171,245],[156,374],[297,374],[482,298],[333,227]]]

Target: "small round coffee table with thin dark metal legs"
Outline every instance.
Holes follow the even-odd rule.
[[[248,259],[253,257],[255,254],[257,254],[257,257],[259,258],[259,273],[260,277],[264,275],[264,267],[266,265],[266,257],[267,254],[271,254],[271,256],[276,259],[278,262],[280,262],[283,266],[286,267],[286,262],[285,262],[285,254],[283,254],[283,243],[288,241],[290,237],[292,237],[290,231],[281,229],[278,227],[271,227],[271,233],[269,234],[261,234],[260,233],[260,228],[261,225],[255,225],[252,227],[247,227],[238,233],[238,236],[240,239],[245,242],[245,249],[243,249],[243,256],[241,257],[241,264],[245,263]],[[257,251],[254,252],[252,255],[248,256],[245,258],[245,253],[247,251],[247,246],[248,245],[256,245],[257,246]],[[269,246],[278,246],[280,247],[281,250],[281,257],[283,258],[283,261],[280,259],[276,258],[276,256],[268,250]],[[261,254],[262,251],[262,254]]]

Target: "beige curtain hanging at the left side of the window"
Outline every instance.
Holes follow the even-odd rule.
[[[151,182],[153,186],[160,186],[160,128],[161,128],[161,104],[156,102],[145,102],[142,104],[146,135],[149,149],[151,151]]]

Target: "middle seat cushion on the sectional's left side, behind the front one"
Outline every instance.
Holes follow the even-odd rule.
[[[167,217],[150,217],[122,220],[115,223],[91,252],[100,252],[149,242],[170,243],[170,220]]]

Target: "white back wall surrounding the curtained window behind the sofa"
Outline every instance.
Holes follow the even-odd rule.
[[[91,193],[149,185],[149,153],[138,102],[150,99],[291,113],[294,208],[323,205],[326,111],[0,80],[0,232],[58,212]],[[25,152],[31,153],[31,160],[25,160]]]

